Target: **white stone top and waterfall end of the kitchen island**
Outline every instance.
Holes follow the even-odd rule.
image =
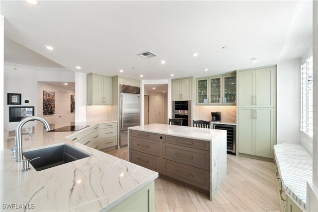
[[[210,199],[214,198],[227,173],[227,132],[206,128],[195,128],[165,124],[150,124],[129,127],[129,131],[136,130],[147,133],[156,133],[186,139],[195,139],[210,142]],[[130,133],[129,133],[130,135]],[[162,139],[161,141],[162,142]],[[128,142],[128,149],[130,143]],[[162,151],[161,151],[162,153]],[[160,155],[162,157],[162,155]]]

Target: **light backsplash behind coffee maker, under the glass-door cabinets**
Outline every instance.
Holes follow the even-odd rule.
[[[237,121],[237,106],[214,106],[195,105],[193,106],[193,120],[211,120],[211,112],[221,112],[221,120],[225,122]]]

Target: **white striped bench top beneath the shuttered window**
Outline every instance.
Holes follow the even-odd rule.
[[[286,194],[306,210],[307,181],[313,179],[313,156],[301,145],[274,145],[275,158]]]

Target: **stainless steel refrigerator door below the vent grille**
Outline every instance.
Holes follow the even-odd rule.
[[[140,125],[140,94],[120,93],[119,145],[128,143],[128,128]]]

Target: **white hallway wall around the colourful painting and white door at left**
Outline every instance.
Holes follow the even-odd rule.
[[[37,112],[38,116],[43,117],[46,121],[48,121],[49,124],[59,124],[59,92],[66,92],[68,93],[69,100],[68,100],[68,121],[69,122],[74,122],[75,121],[75,113],[71,113],[71,94],[75,95],[75,90],[70,89],[67,87],[62,87],[62,86],[56,86],[52,84],[48,84],[46,82],[38,82],[38,87],[37,87],[37,99],[38,99],[38,104],[37,104]],[[55,92],[55,114],[53,115],[43,115],[43,90],[47,91],[54,91]],[[76,96],[75,96],[76,100]]]

